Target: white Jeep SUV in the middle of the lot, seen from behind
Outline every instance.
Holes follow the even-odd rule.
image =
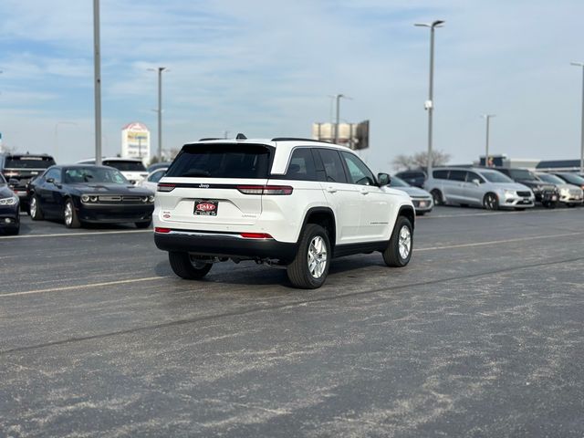
[[[284,266],[295,287],[324,284],[332,258],[412,257],[410,197],[353,151],[303,139],[202,140],[183,146],[158,184],[154,241],[177,276],[215,262]]]

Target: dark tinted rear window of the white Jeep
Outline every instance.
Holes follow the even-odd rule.
[[[186,145],[164,176],[266,179],[270,158],[270,149],[256,144]]]

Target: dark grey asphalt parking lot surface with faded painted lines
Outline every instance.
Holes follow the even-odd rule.
[[[0,436],[584,435],[584,208],[437,207],[313,291],[25,217],[0,278]]]

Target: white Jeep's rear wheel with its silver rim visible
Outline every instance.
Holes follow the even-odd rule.
[[[316,289],[324,285],[331,255],[327,231],[318,224],[307,224],[296,257],[287,266],[290,283],[301,289]]]

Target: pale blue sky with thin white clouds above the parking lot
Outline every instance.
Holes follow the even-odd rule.
[[[93,141],[92,2],[0,3],[0,131],[20,151],[87,158]],[[164,147],[201,137],[310,135],[328,121],[370,120],[374,170],[426,148],[429,34],[436,31],[434,147],[452,162],[484,151],[579,157],[584,2],[558,0],[101,0],[104,151],[120,129],[156,138],[163,76]],[[66,121],[68,123],[59,123]],[[58,151],[56,151],[56,131]]]

